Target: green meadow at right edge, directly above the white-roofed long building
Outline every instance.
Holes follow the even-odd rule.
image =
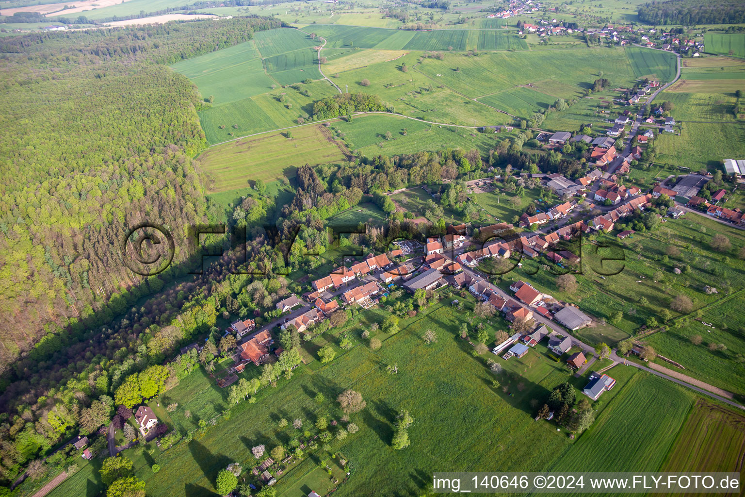
[[[723,159],[745,155],[745,123],[685,122],[680,133],[660,133],[658,162],[714,171],[721,168]]]

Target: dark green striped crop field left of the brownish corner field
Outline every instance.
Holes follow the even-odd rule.
[[[619,368],[624,366],[616,366],[608,374],[614,376]],[[550,470],[658,471],[693,400],[694,395],[689,390],[657,376],[637,373],[580,440],[565,449]],[[604,401],[603,397],[600,401]]]

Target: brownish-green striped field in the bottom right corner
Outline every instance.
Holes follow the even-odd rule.
[[[698,399],[662,471],[741,472],[744,453],[742,414]]]

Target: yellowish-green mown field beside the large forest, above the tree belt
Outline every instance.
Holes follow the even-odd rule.
[[[293,138],[289,139],[287,133],[292,133]],[[199,156],[203,171],[210,177],[211,192],[244,188],[248,180],[270,182],[280,177],[291,178],[303,164],[344,159],[346,148],[335,142],[331,132],[320,124],[239,139],[208,148]]]

